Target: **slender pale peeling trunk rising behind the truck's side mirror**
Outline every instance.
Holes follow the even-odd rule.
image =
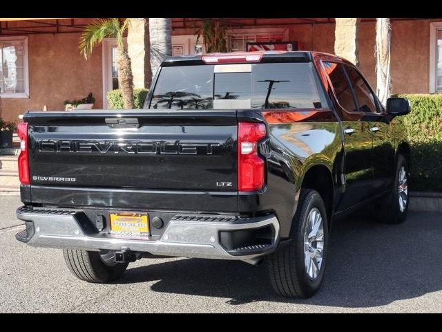
[[[390,98],[390,19],[376,19],[376,87],[379,100],[385,106]]]

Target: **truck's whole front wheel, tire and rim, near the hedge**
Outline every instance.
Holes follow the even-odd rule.
[[[404,156],[398,155],[396,172],[394,175],[394,185],[390,196],[384,202],[379,219],[384,223],[401,223],[405,220],[410,201],[408,190],[408,163]]]

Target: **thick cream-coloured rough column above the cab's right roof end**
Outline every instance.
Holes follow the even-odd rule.
[[[359,65],[359,24],[361,19],[336,19],[334,53],[355,66]]]

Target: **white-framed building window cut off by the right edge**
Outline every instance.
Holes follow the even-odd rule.
[[[430,23],[430,93],[442,93],[442,22]]]

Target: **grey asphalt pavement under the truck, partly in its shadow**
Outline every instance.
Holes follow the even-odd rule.
[[[442,312],[440,213],[336,222],[320,291],[285,299],[271,293],[265,266],[237,261],[142,259],[117,284],[81,282],[61,250],[15,240],[19,205],[0,196],[0,312]]]

